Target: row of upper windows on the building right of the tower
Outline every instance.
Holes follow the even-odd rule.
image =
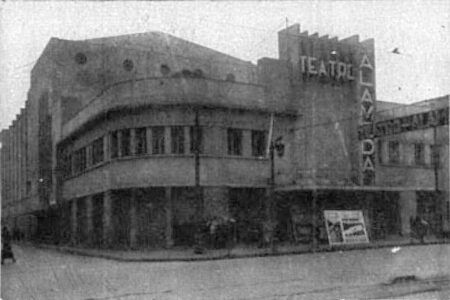
[[[425,151],[425,144],[423,143],[413,143],[404,144],[404,147],[412,145],[414,158],[412,159],[413,164],[417,166],[424,166],[428,163],[434,163],[439,161],[438,149],[434,148],[433,145],[430,146],[430,151],[427,153]],[[403,151],[405,152],[405,151]],[[429,155],[429,159],[426,159],[426,155]],[[406,159],[404,159],[406,160]],[[378,141],[378,162],[379,163],[391,163],[399,164],[402,162],[402,153],[400,149],[399,141],[388,141],[387,142],[387,157],[384,155],[384,141]]]

